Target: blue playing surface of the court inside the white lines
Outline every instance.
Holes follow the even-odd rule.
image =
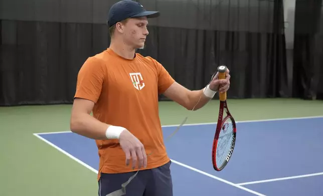
[[[215,127],[187,124],[165,143],[175,196],[323,195],[323,117],[238,122],[233,156],[222,171],[211,161]],[[163,126],[164,135],[175,129]],[[97,172],[94,140],[69,131],[35,135]]]

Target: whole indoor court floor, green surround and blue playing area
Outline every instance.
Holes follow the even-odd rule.
[[[166,137],[189,115],[165,142],[175,196],[323,195],[323,101],[229,99],[236,146],[224,170],[215,171],[218,103],[194,112],[159,103]],[[97,148],[94,140],[69,131],[70,109],[0,107],[0,195],[97,195]]]

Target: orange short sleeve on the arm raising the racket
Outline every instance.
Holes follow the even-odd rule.
[[[158,71],[158,94],[163,94],[175,82],[175,79],[162,64],[156,60],[155,64]]]

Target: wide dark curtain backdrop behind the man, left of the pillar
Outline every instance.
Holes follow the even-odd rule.
[[[83,62],[109,46],[116,1],[1,0],[0,105],[71,103]],[[282,0],[136,1],[161,12],[138,52],[182,85],[201,89],[226,64],[229,98],[288,95]]]

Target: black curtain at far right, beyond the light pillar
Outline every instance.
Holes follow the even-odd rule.
[[[296,0],[293,96],[323,99],[322,0]]]

